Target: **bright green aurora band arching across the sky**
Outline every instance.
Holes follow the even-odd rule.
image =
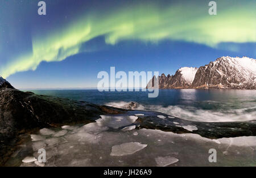
[[[204,7],[204,8],[202,8]],[[42,61],[62,61],[80,53],[81,45],[98,36],[106,44],[123,40],[155,43],[161,40],[180,40],[217,48],[218,43],[256,42],[255,3],[226,6],[217,9],[216,16],[208,14],[209,7],[189,2],[160,7],[154,3],[121,8],[108,14],[81,15],[66,28],[32,36],[31,53],[6,63],[0,74],[7,78],[20,71],[36,70]]]

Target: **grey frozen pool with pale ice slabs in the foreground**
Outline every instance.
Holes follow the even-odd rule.
[[[9,164],[256,166],[256,137],[212,140],[197,134],[138,129],[138,125],[133,125],[136,119],[137,116],[101,116],[97,122],[87,125],[42,129],[31,134],[30,141],[20,145]],[[127,126],[129,129],[123,129]],[[42,148],[46,150],[46,163],[36,160],[39,156],[38,150]],[[216,149],[217,163],[209,162],[209,149]]]

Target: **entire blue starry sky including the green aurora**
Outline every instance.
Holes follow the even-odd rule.
[[[0,75],[16,88],[96,87],[97,74],[174,74],[221,56],[256,58],[255,1],[0,1]]]

